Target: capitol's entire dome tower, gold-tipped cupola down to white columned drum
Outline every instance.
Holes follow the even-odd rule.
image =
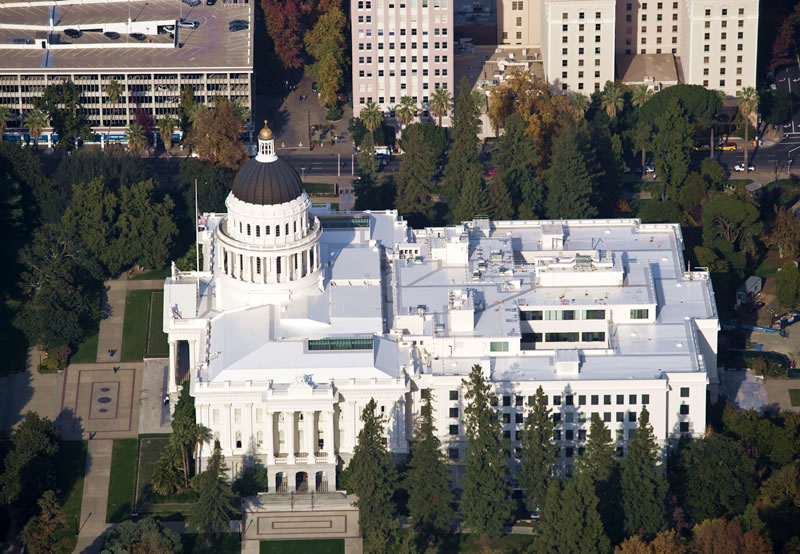
[[[297,172],[275,154],[264,122],[258,155],[237,173],[216,229],[226,307],[274,303],[319,290],[322,228]],[[266,286],[265,286],[266,285]],[[272,285],[272,286],[270,286]],[[231,294],[232,293],[232,294]]]

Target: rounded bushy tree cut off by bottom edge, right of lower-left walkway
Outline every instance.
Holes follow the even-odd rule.
[[[181,536],[167,529],[151,517],[138,521],[123,521],[108,530],[103,537],[100,554],[124,554],[127,552],[169,554],[183,552]]]

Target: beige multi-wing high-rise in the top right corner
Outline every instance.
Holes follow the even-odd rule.
[[[500,48],[541,51],[548,81],[755,86],[759,0],[498,0]],[[612,56],[613,52],[613,56]]]

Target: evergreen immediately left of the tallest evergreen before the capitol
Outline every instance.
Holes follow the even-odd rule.
[[[453,519],[447,461],[436,436],[432,402],[433,392],[428,389],[417,420],[405,478],[411,521],[414,529],[426,537],[447,533]]]

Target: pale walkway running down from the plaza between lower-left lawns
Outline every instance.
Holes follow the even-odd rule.
[[[81,527],[75,548],[77,553],[99,552],[103,543],[102,535],[111,527],[106,523],[106,509],[113,445],[114,441],[111,440],[89,441],[81,505]]]

